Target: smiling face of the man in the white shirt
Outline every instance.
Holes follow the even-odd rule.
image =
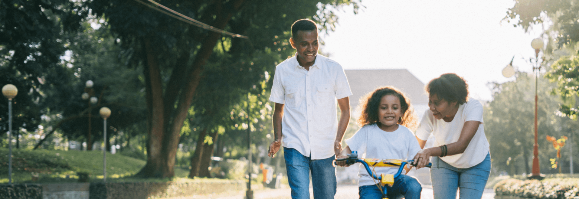
[[[298,62],[302,67],[311,67],[318,54],[318,31],[298,31],[290,38],[291,46],[298,51]]]

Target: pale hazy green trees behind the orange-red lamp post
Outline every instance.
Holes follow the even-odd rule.
[[[491,145],[493,171],[510,175],[530,173],[534,142],[534,77],[516,73],[516,80],[502,84],[493,83],[493,101],[485,105],[485,134]],[[555,114],[560,103],[551,93],[553,84],[538,80],[538,137],[547,134],[568,135],[578,128],[569,118]],[[538,139],[539,160],[542,173],[556,172],[550,167],[549,157],[555,151],[551,143]],[[562,152],[566,153],[566,152]]]

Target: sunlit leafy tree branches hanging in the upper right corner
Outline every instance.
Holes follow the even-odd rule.
[[[554,94],[565,101],[559,108],[560,115],[577,119],[579,104],[579,1],[523,0],[516,1],[504,20],[518,19],[515,27],[528,30],[530,25],[549,25],[544,35],[548,38],[545,60],[552,63],[545,75],[556,82]],[[547,23],[545,23],[547,22]]]

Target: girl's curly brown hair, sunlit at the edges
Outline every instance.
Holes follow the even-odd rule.
[[[362,113],[360,119],[358,119],[358,125],[365,126],[379,122],[378,108],[380,106],[380,101],[382,101],[382,97],[385,95],[394,95],[400,99],[402,114],[400,119],[398,119],[398,124],[401,124],[402,126],[415,131],[418,127],[418,116],[410,104],[410,99],[406,97],[402,91],[396,89],[393,86],[386,86],[376,89],[372,93],[369,93],[360,99],[360,104],[362,105]]]

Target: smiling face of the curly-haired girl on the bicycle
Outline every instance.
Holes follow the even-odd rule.
[[[384,95],[378,106],[378,127],[388,132],[397,130],[401,115],[400,98],[395,95]]]

